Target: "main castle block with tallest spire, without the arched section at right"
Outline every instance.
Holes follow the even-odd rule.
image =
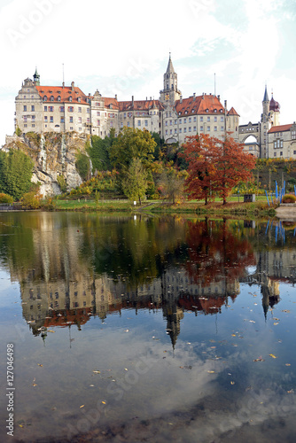
[[[123,127],[147,129],[158,133],[167,144],[183,144],[186,136],[205,133],[222,139],[226,132],[238,140],[239,115],[227,109],[220,96],[202,94],[183,98],[178,89],[177,74],[169,55],[163,76],[160,99],[119,101],[103,97],[98,90],[85,95],[74,86],[43,86],[35,70],[33,80],[27,78],[15,99],[15,128],[21,133],[34,131],[71,132],[100,136],[115,135]]]

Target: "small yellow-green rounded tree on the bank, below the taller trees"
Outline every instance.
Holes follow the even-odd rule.
[[[147,172],[144,170],[140,159],[132,160],[121,184],[125,195],[131,200],[138,199],[140,205],[142,205],[148,182]]]

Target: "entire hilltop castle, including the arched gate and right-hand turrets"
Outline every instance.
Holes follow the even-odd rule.
[[[171,55],[163,75],[160,99],[119,101],[103,97],[98,90],[85,95],[74,86],[43,86],[35,70],[33,80],[22,83],[15,99],[15,128],[26,134],[34,131],[72,132],[105,138],[110,130],[115,136],[122,128],[147,129],[158,133],[166,144],[183,144],[186,136],[208,134],[223,139],[230,132],[245,144],[245,152],[257,158],[296,158],[296,124],[279,124],[280,105],[269,95],[267,87],[262,101],[261,120],[239,125],[239,115],[220,96],[195,93],[183,98]],[[250,137],[252,136],[252,137]],[[252,138],[252,140],[251,140]]]

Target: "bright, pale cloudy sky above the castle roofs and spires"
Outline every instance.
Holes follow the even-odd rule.
[[[44,86],[158,99],[169,53],[183,97],[215,92],[256,123],[267,85],[292,123],[295,22],[294,0],[1,0],[0,145],[35,67]]]

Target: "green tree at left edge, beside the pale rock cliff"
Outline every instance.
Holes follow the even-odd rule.
[[[0,152],[0,190],[19,199],[32,185],[34,162],[25,152]]]

